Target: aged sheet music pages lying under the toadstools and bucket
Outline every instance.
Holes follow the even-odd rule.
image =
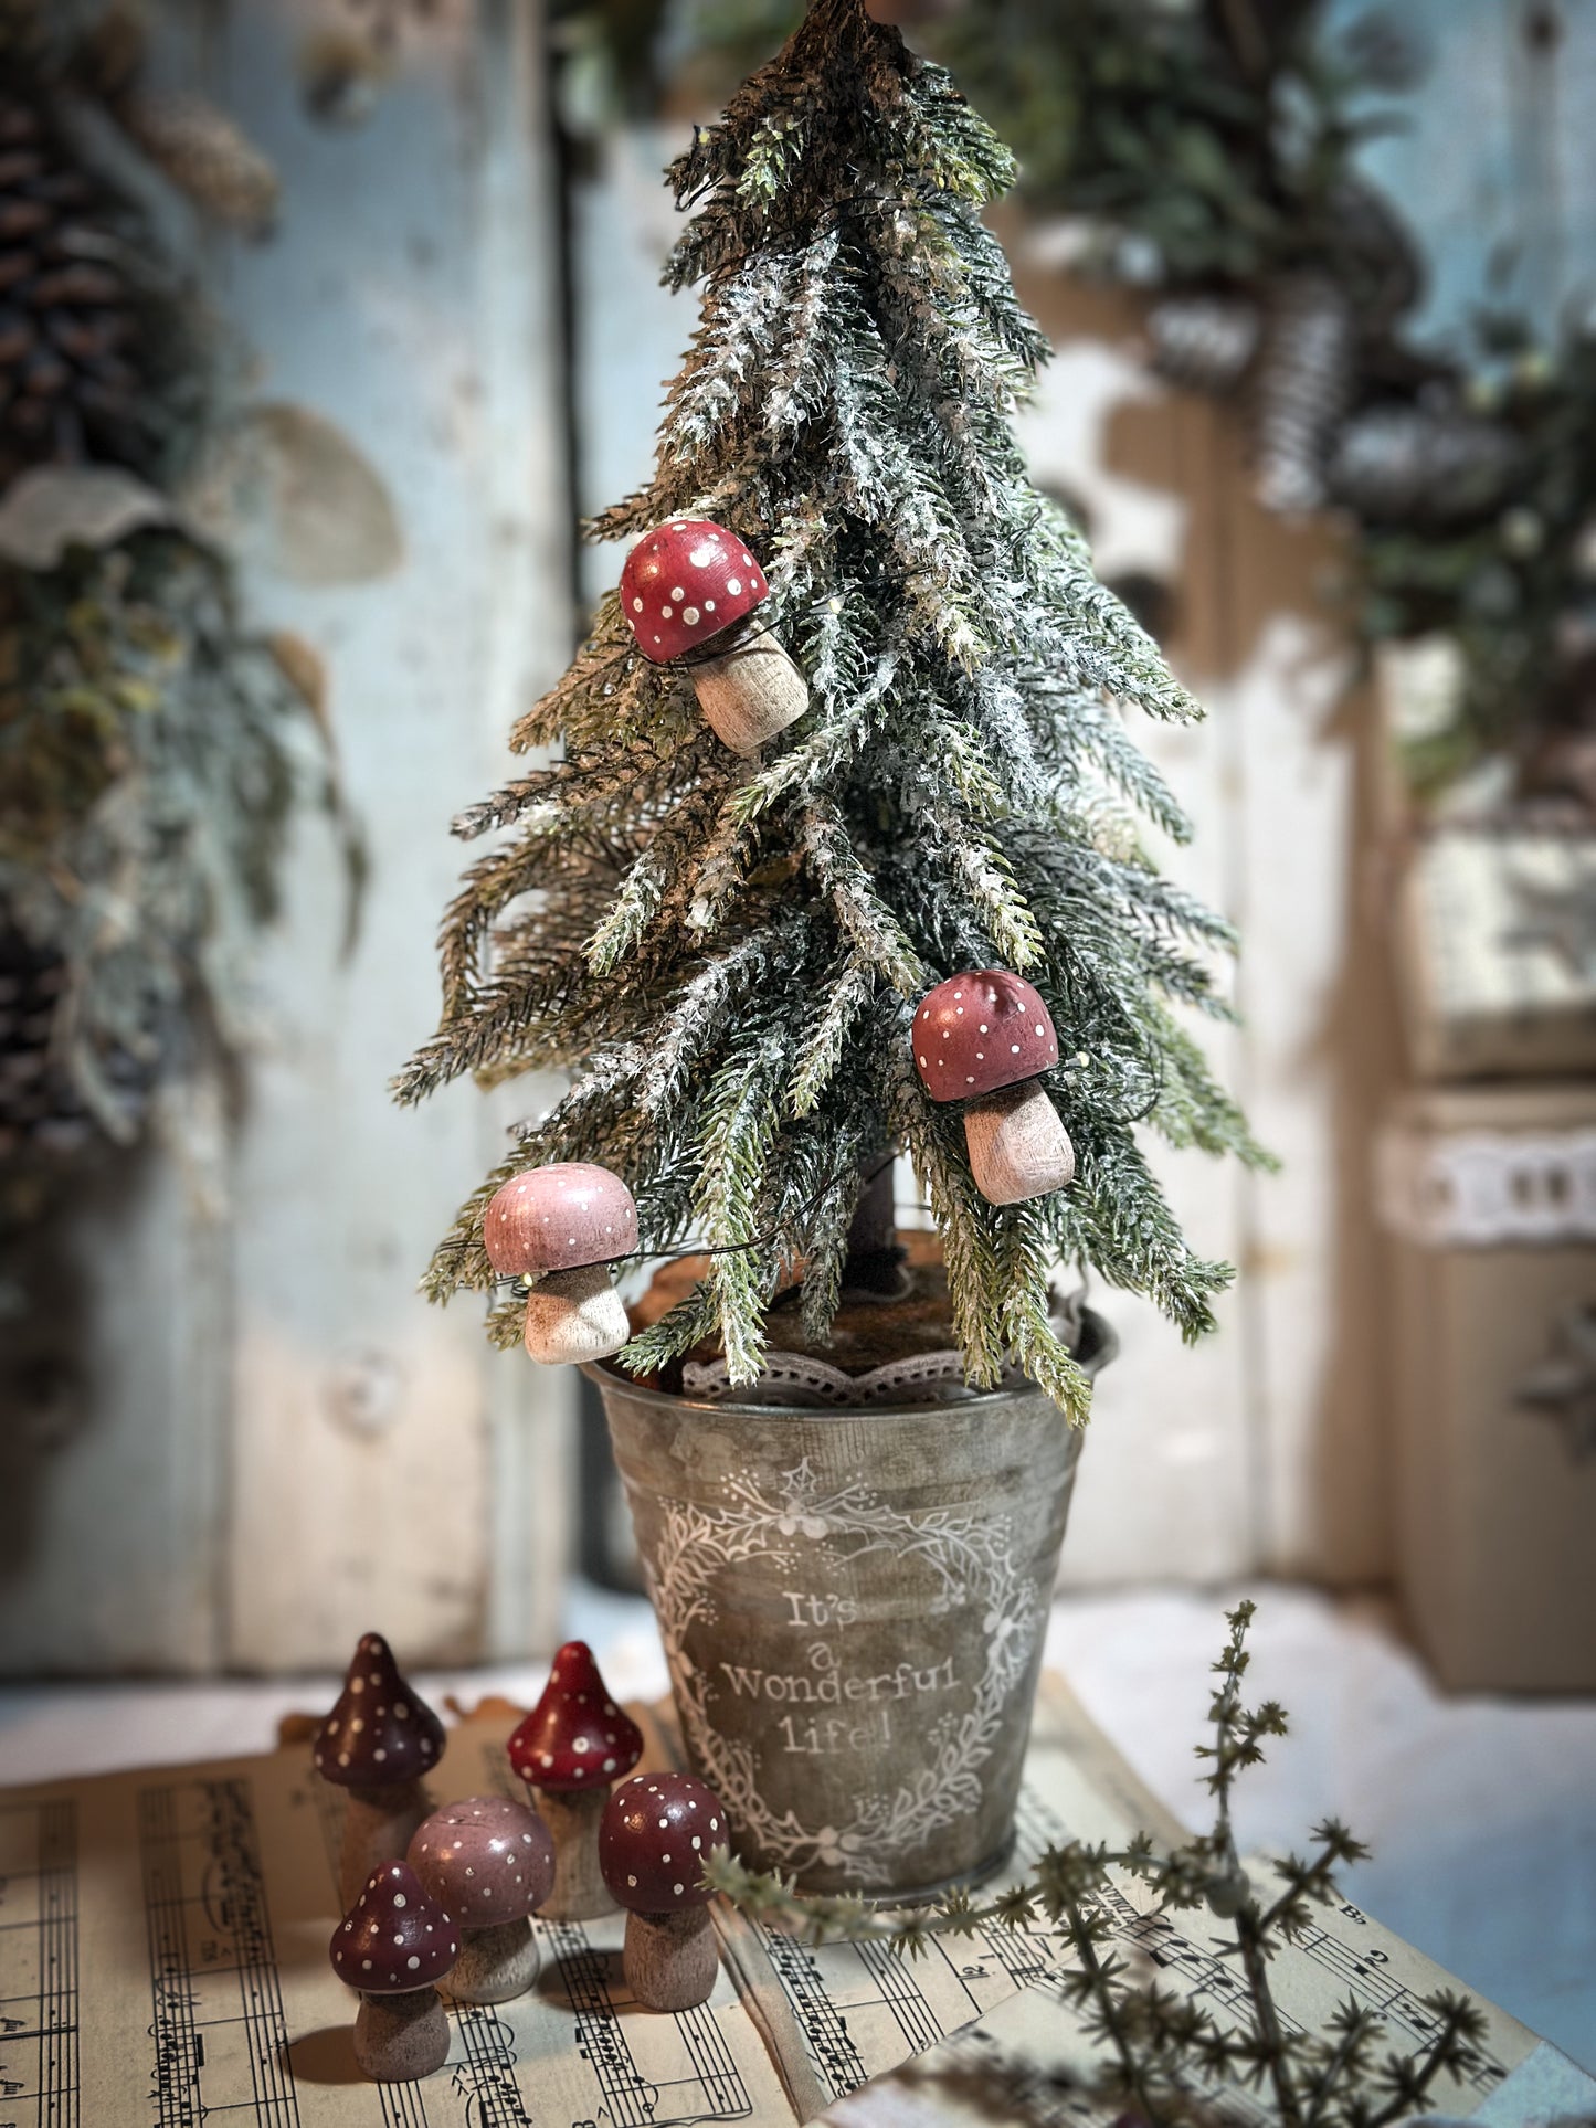
[[[664,1764],[668,1730],[647,1709],[634,1713],[649,1736],[645,1764]],[[502,1707],[455,1726],[428,1783],[434,1796],[519,1796],[504,1756],[511,1726]],[[306,1745],[0,1792],[0,2128],[990,2122],[990,2109],[958,2111],[949,2064],[990,2094],[994,2062],[1047,2064],[1079,2047],[1045,1985],[1060,1958],[1047,1930],[947,1939],[909,1962],[879,1945],[809,1951],[717,1911],[715,1994],[662,2017],[630,2002],[619,1973],[626,1924],[611,1915],[538,1922],[532,1994],[451,2009],[453,2049],[436,2075],[366,2083],[351,2054],[358,2005],[328,1966],[340,1809],[338,1792],[311,1773]],[[1134,1826],[1179,1836],[1049,1679],[1015,1866],[1047,1841],[1119,1841]],[[1128,1951],[1166,1985],[1224,2007],[1234,1975],[1213,1956],[1213,1926],[1202,1915],[1162,1919],[1147,1905],[1141,1888],[1124,1894]],[[1353,1909],[1326,1913],[1273,1973],[1285,2015],[1321,2019],[1351,1992],[1383,2007],[1394,2036],[1413,2045],[1424,2036],[1415,1998],[1443,1979]],[[1524,2026],[1485,2009],[1492,2073],[1479,2090],[1447,2094],[1447,2111],[1475,2111],[1485,2085],[1536,2047]],[[928,2049],[930,2060],[892,2085],[870,2083]],[[1234,2117],[1245,2124],[1258,2111]]]

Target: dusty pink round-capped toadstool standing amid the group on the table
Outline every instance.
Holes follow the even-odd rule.
[[[553,1841],[536,1811],[506,1796],[445,1802],[417,1826],[411,1868],[428,1898],[460,1924],[449,1994],[460,2002],[511,2002],[538,1977],[528,1915],[553,1885]]]

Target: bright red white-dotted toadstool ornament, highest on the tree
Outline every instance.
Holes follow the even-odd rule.
[[[732,753],[758,753],[809,709],[804,675],[777,638],[736,628],[768,594],[743,541],[706,517],[645,532],[621,570],[621,611],[653,664],[724,641],[715,655],[692,660],[692,677],[706,724]]]

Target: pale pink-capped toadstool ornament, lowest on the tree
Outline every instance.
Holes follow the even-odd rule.
[[[500,1279],[538,1279],[526,1296],[534,1360],[606,1360],[632,1334],[609,1275],[636,1249],[636,1202],[619,1175],[592,1160],[511,1175],[483,1213],[483,1245]]]

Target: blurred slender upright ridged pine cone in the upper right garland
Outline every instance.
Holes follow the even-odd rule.
[[[1258,500],[1298,515],[1326,500],[1326,462],[1353,379],[1358,326],[1326,275],[1279,281],[1258,362],[1253,447]]]

